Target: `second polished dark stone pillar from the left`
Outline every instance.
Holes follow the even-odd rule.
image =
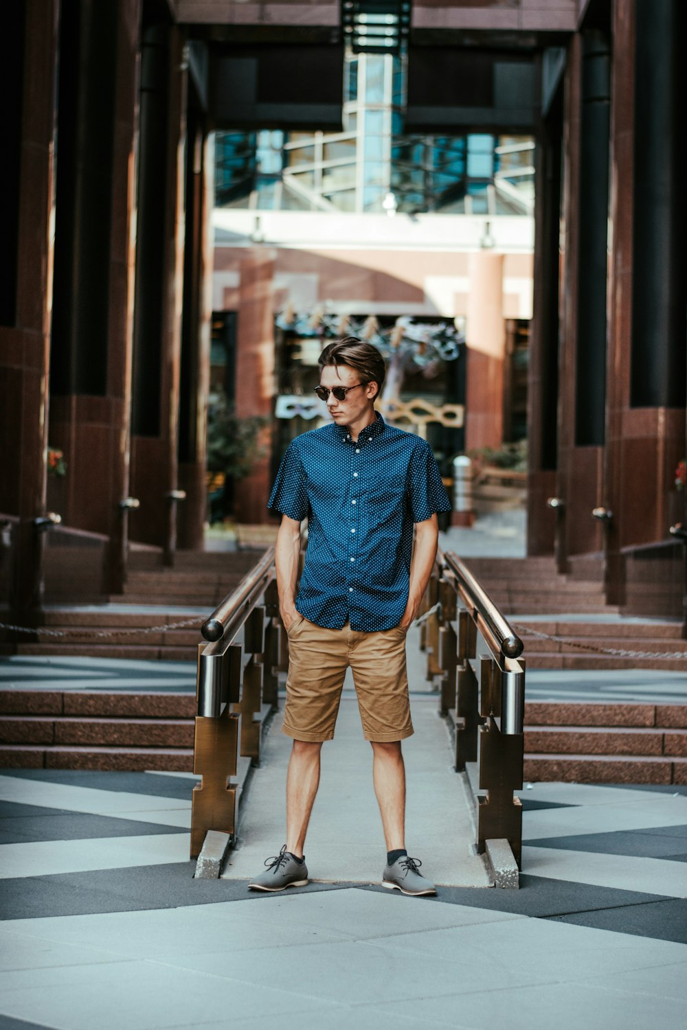
[[[50,433],[65,451],[63,520],[127,550],[134,149],[140,0],[62,5]]]

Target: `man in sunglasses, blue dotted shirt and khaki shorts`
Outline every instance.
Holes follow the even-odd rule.
[[[385,371],[379,351],[348,337],[325,347],[319,367],[316,392],[332,423],[291,442],[269,501],[282,515],[275,564],[289,650],[283,732],[294,744],[286,843],[248,886],[278,891],[308,883],[303,849],[320,751],[334,737],[350,665],[386,840],[382,885],[436,894],[405,847],[401,741],[413,732],[406,632],[434,565],[437,512],[450,505],[428,445],[387,425],[375,411]],[[308,549],[296,597],[306,517]]]

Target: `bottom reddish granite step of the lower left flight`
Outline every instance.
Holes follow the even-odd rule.
[[[103,769],[145,771],[160,769],[193,772],[192,749],[98,748],[76,745],[0,746],[0,763],[5,768]]]

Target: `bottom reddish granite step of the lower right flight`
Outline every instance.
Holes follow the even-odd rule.
[[[524,779],[547,783],[687,784],[687,758],[527,754]]]

